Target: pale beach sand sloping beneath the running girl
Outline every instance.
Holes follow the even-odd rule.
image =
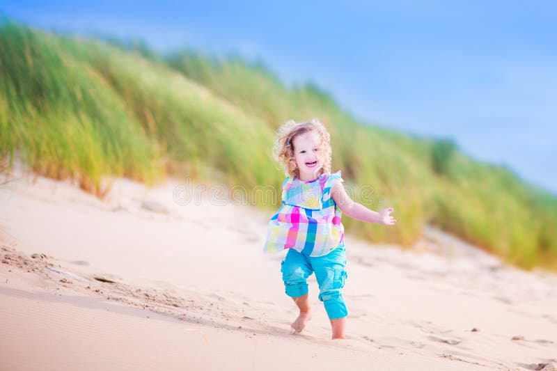
[[[179,205],[185,180],[119,179],[98,200],[13,176],[0,186],[0,370],[557,370],[556,274],[430,226],[411,250],[347,230],[347,339],[330,340],[315,276],[313,319],[290,335],[284,254],[262,253],[271,213],[206,194]]]

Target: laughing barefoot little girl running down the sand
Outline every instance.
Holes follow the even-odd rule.
[[[345,338],[348,310],[342,289],[347,274],[344,226],[340,216],[392,226],[392,207],[374,212],[347,195],[340,171],[331,174],[329,132],[317,119],[310,123],[289,120],[277,131],[274,157],[281,164],[282,203],[269,221],[265,251],[288,248],[281,262],[286,294],[300,310],[292,333],[300,333],[311,319],[306,279],[313,272],[319,284],[319,299],[331,321],[333,339]]]

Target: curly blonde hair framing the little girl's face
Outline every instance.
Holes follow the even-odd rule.
[[[319,175],[331,173],[331,136],[324,125],[313,118],[306,123],[296,123],[295,120],[288,120],[276,130],[276,137],[273,145],[273,157],[280,164],[284,175],[295,177],[299,176],[299,168],[294,158],[294,144],[292,141],[296,136],[307,132],[317,132],[321,142],[319,146],[320,155],[324,158],[323,166],[319,170]]]

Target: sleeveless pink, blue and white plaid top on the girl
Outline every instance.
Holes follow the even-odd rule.
[[[342,212],[331,197],[331,187],[340,177],[322,174],[304,182],[287,177],[283,182],[282,203],[269,221],[265,252],[276,253],[286,248],[308,256],[327,255],[343,241]]]

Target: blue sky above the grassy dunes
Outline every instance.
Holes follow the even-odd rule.
[[[556,2],[339,4],[0,1],[0,11],[43,29],[135,36],[160,51],[261,58],[286,84],[315,81],[361,120],[451,137],[557,194]]]

